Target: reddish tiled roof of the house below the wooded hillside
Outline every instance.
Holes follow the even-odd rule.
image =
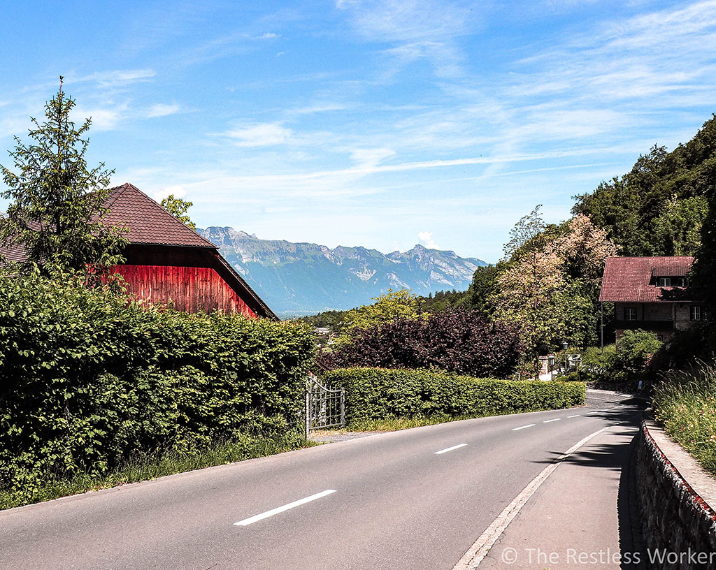
[[[601,280],[600,301],[659,303],[684,301],[681,287],[657,287],[654,277],[684,277],[693,257],[609,257]]]

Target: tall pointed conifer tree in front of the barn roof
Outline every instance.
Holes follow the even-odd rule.
[[[120,262],[127,244],[122,230],[102,224],[112,171],[104,163],[87,169],[89,139],[82,136],[91,121],[75,129],[69,120],[73,107],[60,77],[59,92],[45,105],[47,121],[32,119],[29,137],[35,143],[15,137],[9,154],[19,172],[0,167],[8,187],[0,197],[11,201],[7,217],[0,219],[0,242],[24,248],[26,270],[33,265],[101,270]]]

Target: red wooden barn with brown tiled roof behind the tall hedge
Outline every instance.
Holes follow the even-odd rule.
[[[172,303],[188,313],[223,310],[278,320],[218,247],[131,184],[112,188],[102,222],[123,227],[126,262],[115,272],[127,293],[147,303]],[[21,247],[0,248],[9,261],[23,261]]]

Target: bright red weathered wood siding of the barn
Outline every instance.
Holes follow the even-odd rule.
[[[118,265],[116,272],[125,278],[127,290],[137,300],[172,302],[174,308],[188,313],[218,309],[256,318],[256,313],[212,267]]]

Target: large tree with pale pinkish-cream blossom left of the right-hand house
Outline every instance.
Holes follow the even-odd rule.
[[[517,223],[508,247],[512,256],[498,270],[488,299],[494,318],[521,328],[523,363],[533,367],[538,355],[564,340],[578,348],[596,342],[599,280],[604,260],[616,252],[589,217],[576,215],[558,226],[540,220],[536,208]]]

